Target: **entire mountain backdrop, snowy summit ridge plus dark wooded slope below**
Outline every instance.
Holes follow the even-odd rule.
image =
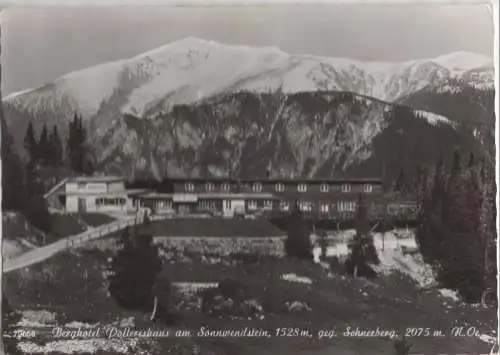
[[[380,155],[377,140],[391,141],[391,134],[400,132],[418,136],[408,131],[413,125],[429,137],[450,132],[450,140],[459,144],[456,121],[433,107],[405,111],[415,122],[394,118],[403,112],[398,105],[450,82],[474,92],[491,90],[491,59],[455,52],[404,63],[364,63],[188,38],[9,95],[4,109],[18,145],[30,120],[35,128],[43,122],[66,126],[80,113],[98,165],[127,176],[195,174],[204,160],[198,149],[204,147],[220,148],[207,158],[217,162],[217,174],[254,175],[271,162],[279,166],[277,173],[292,175],[349,174],[370,164],[371,169],[359,169],[374,173],[369,157]],[[283,117],[268,103],[276,93],[285,102]],[[339,101],[342,95],[352,102]],[[229,158],[232,168],[226,166]]]

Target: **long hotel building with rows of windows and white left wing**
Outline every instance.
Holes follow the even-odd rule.
[[[411,199],[387,194],[381,179],[173,178],[126,184],[120,177],[79,177],[53,194],[67,212],[136,213],[213,217],[279,216],[298,208],[315,219],[352,218],[362,194],[372,216],[412,214]]]

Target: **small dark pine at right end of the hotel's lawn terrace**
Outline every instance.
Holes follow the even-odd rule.
[[[288,218],[288,234],[285,240],[286,254],[289,257],[313,260],[314,256],[307,221],[300,212],[298,202],[295,202],[292,208]]]

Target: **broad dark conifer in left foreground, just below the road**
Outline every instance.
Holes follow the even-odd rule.
[[[148,221],[131,236],[130,242],[128,236],[123,240],[111,262],[109,292],[120,307],[150,312],[154,304],[153,286],[162,263]]]

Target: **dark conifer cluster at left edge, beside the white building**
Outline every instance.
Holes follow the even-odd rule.
[[[22,159],[16,152],[3,116],[1,123],[2,208],[19,211],[34,227],[49,231],[50,215],[44,198],[47,174],[50,175],[51,171],[61,168],[77,174],[90,174],[93,171],[82,119],[75,114],[69,123],[65,147],[57,126],[49,130],[44,124],[40,136],[37,137],[30,122],[23,142],[26,159]]]

